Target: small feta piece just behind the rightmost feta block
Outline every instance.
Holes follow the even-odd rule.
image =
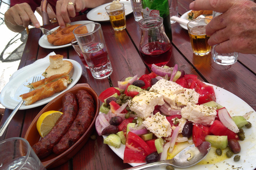
[[[199,99],[199,94],[195,89],[185,89],[183,94],[178,94],[175,103],[177,106],[187,106],[188,102],[191,104],[197,104]]]

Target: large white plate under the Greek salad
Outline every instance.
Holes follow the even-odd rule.
[[[235,155],[233,155],[233,157],[223,160],[222,162],[219,163],[215,163],[215,164],[207,164],[207,165],[194,165],[192,167],[189,167],[189,170],[212,170],[212,169],[225,169],[225,170],[233,170],[233,169],[246,169],[246,170],[254,170],[256,168],[256,112],[253,110],[253,108],[251,106],[249,106],[247,103],[245,103],[244,100],[242,100],[241,98],[237,97],[236,95],[232,94],[231,92],[214,86],[212,84],[206,83],[210,86],[213,86],[214,91],[215,91],[215,95],[217,98],[217,103],[219,103],[220,105],[224,106],[227,108],[229,114],[231,116],[242,116],[248,112],[253,112],[250,115],[249,118],[249,122],[252,123],[252,128],[250,129],[246,129],[243,128],[244,132],[245,132],[245,140],[244,141],[239,141],[240,145],[241,145],[241,152],[239,154],[236,155],[240,155],[241,156],[241,160],[239,160],[238,162],[234,162],[233,158]],[[107,136],[103,136],[103,138],[106,138]],[[121,144],[120,148],[115,148],[112,146],[109,146],[116,155],[118,155],[120,158],[124,159],[124,149],[125,149],[125,145]],[[137,164],[137,163],[131,163],[131,166],[138,166],[141,164]],[[150,170],[165,170],[166,165],[162,165],[162,166],[155,166],[155,167],[151,167],[148,168]],[[181,170],[181,168],[176,168],[175,170]]]

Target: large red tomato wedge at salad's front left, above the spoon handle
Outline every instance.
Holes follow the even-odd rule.
[[[146,156],[151,154],[151,149],[143,139],[137,134],[129,132],[127,134],[124,163],[146,163]]]

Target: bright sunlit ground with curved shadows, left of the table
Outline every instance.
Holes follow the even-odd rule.
[[[10,4],[10,0],[5,0],[4,2]],[[0,6],[0,92],[5,84],[9,82],[10,76],[17,71],[27,41],[26,30],[21,33],[12,32],[4,24],[3,14],[9,8],[7,4],[2,3]],[[41,22],[41,16],[38,14],[36,16],[38,21]],[[3,110],[3,108],[0,104],[0,110]]]

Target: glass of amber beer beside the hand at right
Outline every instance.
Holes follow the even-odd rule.
[[[205,27],[211,21],[209,18],[201,18],[189,21],[187,24],[191,46],[195,55],[204,56],[211,52],[208,44],[210,36],[206,35]]]

